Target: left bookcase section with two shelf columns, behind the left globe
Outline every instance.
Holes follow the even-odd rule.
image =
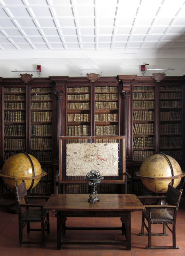
[[[53,192],[53,84],[49,79],[3,79],[1,84],[1,166],[12,155],[26,152],[40,162],[47,176],[30,193]],[[2,193],[9,189],[2,186]]]

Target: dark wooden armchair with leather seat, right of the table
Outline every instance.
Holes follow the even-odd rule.
[[[179,203],[181,199],[183,189],[176,189],[170,184],[168,185],[168,190],[166,196],[155,196],[155,197],[138,197],[141,201],[154,198],[155,200],[164,199],[164,204],[162,205],[145,205],[146,211],[142,213],[142,225],[141,233],[138,235],[148,235],[148,246],[145,249],[179,249],[176,246],[176,218],[177,211],[179,208]],[[170,211],[169,211],[170,210]],[[148,222],[148,226],[145,222]],[[152,233],[152,224],[162,224],[163,233]],[[169,226],[172,225],[172,227]],[[152,236],[168,236],[166,233],[166,227],[172,233],[172,246],[152,246]],[[144,228],[146,228],[147,233],[144,233]]]

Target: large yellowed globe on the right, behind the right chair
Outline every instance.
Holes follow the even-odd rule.
[[[168,184],[172,182],[172,186],[176,188],[184,175],[174,158],[159,152],[143,161],[137,176],[150,191],[166,193]]]

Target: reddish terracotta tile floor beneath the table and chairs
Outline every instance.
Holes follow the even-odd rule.
[[[7,201],[7,200],[6,200]],[[178,250],[145,250],[146,236],[137,236],[141,228],[141,212],[133,212],[131,216],[131,251],[126,251],[121,245],[64,245],[61,251],[56,250],[56,217],[55,212],[50,212],[50,234],[45,235],[45,249],[41,245],[19,245],[18,215],[7,212],[7,202],[0,202],[0,255],[2,256],[180,256],[185,255],[185,198],[181,199],[176,224],[176,240]],[[67,224],[71,226],[120,226],[119,218],[69,218]],[[154,229],[153,229],[154,230]],[[155,231],[159,226],[155,225]],[[73,239],[88,237],[88,239],[119,240],[121,231],[66,231],[66,237]],[[167,231],[168,232],[168,231]],[[152,237],[153,245],[171,245],[171,233],[167,237]],[[24,230],[25,236],[26,230]],[[32,236],[40,232],[31,232]]]

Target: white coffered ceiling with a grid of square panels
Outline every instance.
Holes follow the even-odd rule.
[[[0,0],[0,51],[184,50],[184,27],[184,0]]]

